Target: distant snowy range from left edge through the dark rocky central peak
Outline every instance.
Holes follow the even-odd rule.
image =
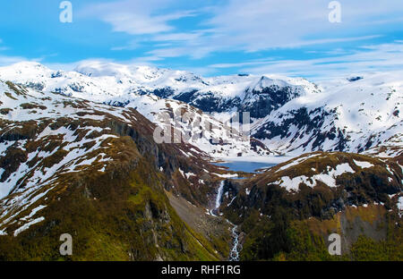
[[[40,63],[0,67],[0,79],[66,96],[104,102],[127,94],[184,101],[203,112],[248,111],[261,118],[294,97],[321,90],[304,79],[230,75],[201,78],[191,72],[116,63],[81,63],[72,72],[50,70]]]

